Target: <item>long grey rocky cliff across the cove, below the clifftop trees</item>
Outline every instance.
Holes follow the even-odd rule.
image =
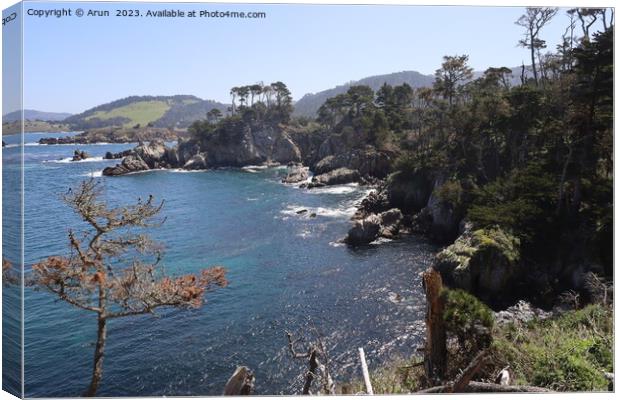
[[[394,154],[350,142],[320,129],[255,127],[238,121],[207,135],[179,139],[173,147],[167,147],[161,140],[141,143],[133,151],[123,153],[121,163],[106,168],[104,174],[118,176],[157,168],[301,164],[309,167],[315,175],[315,182],[310,187],[368,182],[387,176]],[[120,155],[110,154],[109,158]],[[296,182],[308,178],[307,174],[297,177]],[[293,181],[294,177],[287,180]]]

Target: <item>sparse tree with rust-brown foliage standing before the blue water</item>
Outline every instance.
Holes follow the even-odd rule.
[[[103,374],[106,324],[111,319],[150,314],[160,307],[196,308],[205,292],[227,284],[225,269],[204,269],[198,275],[166,276],[159,266],[162,247],[135,229],[163,223],[155,217],[163,202],[153,197],[135,205],[109,208],[94,180],[63,196],[87,223],[88,230],[69,230],[69,256],[53,256],[32,268],[31,285],[97,315],[97,342],[91,383],[94,396]],[[144,260],[150,260],[146,262]]]

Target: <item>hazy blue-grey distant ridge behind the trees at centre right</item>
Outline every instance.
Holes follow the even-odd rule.
[[[481,77],[483,73],[483,71],[474,71],[474,79]],[[525,75],[531,76],[530,67],[525,67]],[[325,100],[330,97],[345,93],[351,86],[355,85],[370,86],[374,91],[377,91],[384,83],[387,83],[391,86],[408,83],[412,88],[415,89],[419,87],[432,86],[434,81],[434,75],[424,75],[416,71],[402,71],[386,75],[370,76],[368,78],[360,79],[359,81],[352,81],[349,83],[345,83],[344,85],[336,86],[332,89],[323,90],[318,93],[308,93],[304,95],[301,99],[299,99],[299,101],[295,103],[295,111],[293,112],[293,115],[314,118],[316,117],[316,113],[319,110],[319,107],[323,105]],[[514,67],[512,68],[512,79],[510,80],[510,83],[512,85],[517,85],[520,82],[521,67]]]

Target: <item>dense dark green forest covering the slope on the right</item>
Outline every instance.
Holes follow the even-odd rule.
[[[555,13],[528,9],[520,24],[544,25]],[[575,13],[601,18],[591,10]],[[364,110],[382,110],[388,126],[382,137],[402,150],[394,163],[398,179],[449,177],[435,191],[440,201],[477,228],[498,225],[513,233],[534,264],[585,258],[610,273],[613,30],[606,25],[604,32],[565,37],[557,52],[533,60],[531,72],[524,68],[520,85],[510,85],[504,67],[473,79],[461,55],[444,57],[433,88],[413,91],[412,99],[403,88],[382,88]],[[536,35],[522,44],[538,51]],[[332,126],[329,104],[322,121]],[[356,127],[338,121],[345,126],[337,129]]]

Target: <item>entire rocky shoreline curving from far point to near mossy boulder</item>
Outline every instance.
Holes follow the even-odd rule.
[[[237,129],[235,135],[222,132],[179,139],[173,146],[155,139],[131,150],[108,153],[106,159],[121,161],[105,168],[103,175],[287,165],[282,182],[301,188],[349,183],[375,187],[359,204],[344,243],[356,247],[381,238],[424,234],[446,245],[433,262],[446,284],[467,290],[495,308],[523,298],[541,300],[539,294],[557,278],[553,270],[544,276],[529,273],[519,240],[510,232],[498,227],[474,229],[458,207],[442,199],[439,191],[447,179],[441,171],[421,171],[414,176],[391,173],[395,154],[371,145],[351,146],[338,134],[250,127]],[[583,275],[596,268],[574,265],[563,270],[573,286],[579,287]]]

